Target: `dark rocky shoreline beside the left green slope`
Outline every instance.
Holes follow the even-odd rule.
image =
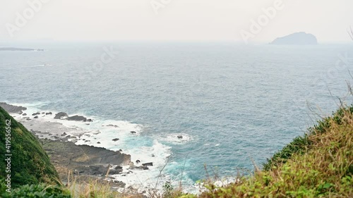
[[[13,106],[4,102],[1,102],[0,106],[37,137],[64,183],[68,182],[69,178],[70,181],[74,178],[76,182],[98,180],[109,182],[112,187],[124,188],[126,184],[111,175],[126,176],[133,173],[134,170],[148,170],[148,166],[153,166],[152,162],[135,166],[131,162],[131,155],[122,153],[121,149],[112,151],[102,147],[76,145],[75,143],[81,140],[83,135],[92,131],[68,128],[61,123],[51,121],[40,121],[40,118],[54,116],[52,112],[37,112],[27,115],[23,113],[26,110],[23,106]],[[64,112],[56,113],[54,119],[84,122],[88,125],[93,121],[84,116],[68,116]],[[131,131],[131,134],[133,133],[136,132]],[[119,139],[116,138],[112,141],[117,140]]]

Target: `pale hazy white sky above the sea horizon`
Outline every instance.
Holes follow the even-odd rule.
[[[29,2],[34,2],[30,6]],[[40,4],[38,4],[40,2]],[[1,0],[0,40],[234,40],[270,42],[309,32],[350,42],[352,0]],[[152,5],[154,6],[152,6]],[[275,9],[263,16],[263,9]],[[24,18],[25,21],[20,20]],[[22,18],[22,19],[23,19]],[[262,20],[251,32],[251,20]],[[16,24],[17,23],[17,24]],[[11,36],[12,35],[12,36]]]

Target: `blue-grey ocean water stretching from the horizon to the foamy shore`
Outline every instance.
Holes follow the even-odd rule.
[[[337,97],[347,95],[347,81],[352,81],[349,44],[11,46],[45,51],[0,51],[0,101],[23,104],[33,112],[65,111],[93,118],[91,125],[66,124],[92,131],[102,143],[92,145],[123,149],[133,161],[156,164],[135,178],[121,178],[131,184],[155,179],[165,163],[162,177],[185,185],[206,177],[204,165],[210,175],[220,177],[234,176],[239,168],[252,170],[252,161],[261,166],[303,135],[318,116],[335,111]],[[114,53],[109,56],[107,50]],[[121,141],[112,142],[116,137]]]

